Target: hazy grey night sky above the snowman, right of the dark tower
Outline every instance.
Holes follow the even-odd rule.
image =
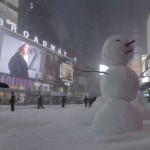
[[[80,62],[98,67],[104,41],[121,34],[136,39],[146,52],[146,22],[150,0],[54,0],[53,8],[65,27],[64,44],[76,49]],[[86,61],[87,62],[87,61]]]

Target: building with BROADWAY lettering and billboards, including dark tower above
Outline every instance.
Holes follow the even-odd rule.
[[[77,63],[76,53],[65,49],[59,35],[61,20],[43,5],[38,0],[0,2],[0,82],[9,85],[8,89],[1,88],[3,103],[8,103],[12,90],[17,101],[23,104],[34,103],[39,94],[48,104],[57,104],[63,94],[82,96],[81,91],[78,93],[74,88],[78,86],[73,69]],[[24,45],[28,46],[26,55],[20,53]],[[25,67],[18,69],[22,62],[14,61],[18,59],[16,55],[21,56],[28,67],[26,76],[22,74]]]

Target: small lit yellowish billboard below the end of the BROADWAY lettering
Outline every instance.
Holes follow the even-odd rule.
[[[61,74],[62,81],[73,83],[73,68],[72,68],[72,66],[70,66],[66,63],[62,63],[61,69],[60,69],[60,74]]]

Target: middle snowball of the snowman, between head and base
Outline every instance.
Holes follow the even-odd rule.
[[[139,89],[139,79],[135,72],[122,65],[112,66],[108,75],[101,78],[101,92],[106,101],[133,101]]]

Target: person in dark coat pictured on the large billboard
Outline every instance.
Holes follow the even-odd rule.
[[[11,57],[8,67],[11,75],[29,78],[28,75],[29,44],[23,44]]]

